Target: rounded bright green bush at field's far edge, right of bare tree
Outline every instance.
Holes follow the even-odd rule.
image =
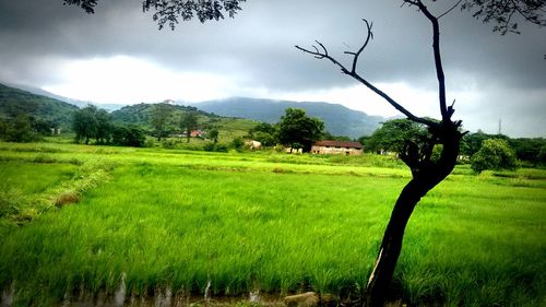
[[[518,158],[506,140],[485,140],[482,147],[471,160],[472,169],[482,173],[486,169],[515,169]]]

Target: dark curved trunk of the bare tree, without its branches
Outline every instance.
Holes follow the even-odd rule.
[[[402,241],[407,222],[419,200],[434,187],[440,184],[456,163],[461,133],[458,123],[449,121],[442,125],[440,139],[443,150],[440,160],[420,162],[417,167],[411,166],[413,178],[404,187],[394,204],[391,219],[384,231],[379,253],[366,287],[367,307],[382,307],[387,298],[394,268],[402,251]]]

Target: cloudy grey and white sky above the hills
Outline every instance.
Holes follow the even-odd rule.
[[[431,27],[400,0],[247,0],[235,19],[159,31],[139,0],[0,0],[0,82],[103,104],[257,97],[399,113],[327,60],[294,46],[319,40],[345,63],[373,40],[358,72],[417,116],[439,118]],[[441,14],[451,0],[427,2]],[[546,28],[501,36],[468,12],[440,19],[448,101],[466,130],[546,137]],[[500,125],[499,125],[500,122]]]

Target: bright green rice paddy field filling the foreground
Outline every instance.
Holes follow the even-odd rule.
[[[2,304],[314,291],[348,305],[410,176],[376,155],[0,143]],[[408,306],[546,306],[546,170],[458,166],[412,216],[392,287]]]

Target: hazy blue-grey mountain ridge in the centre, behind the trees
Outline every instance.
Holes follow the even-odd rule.
[[[193,104],[202,110],[221,116],[249,118],[265,122],[277,122],[288,107],[302,108],[307,115],[324,121],[325,129],[334,135],[356,139],[371,134],[385,118],[369,116],[342,105],[328,103],[296,103],[257,98],[228,98]]]

